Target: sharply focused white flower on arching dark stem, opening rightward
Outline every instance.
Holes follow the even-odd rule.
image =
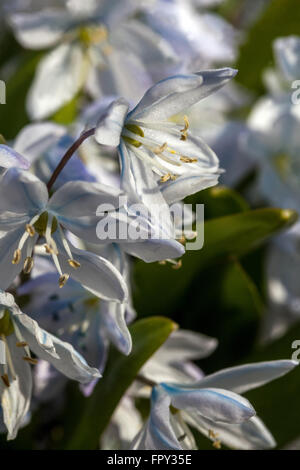
[[[146,205],[168,204],[217,184],[219,162],[214,152],[189,132],[188,118],[169,119],[224,86],[232,69],[177,75],[150,88],[128,113],[117,100],[96,128],[97,142],[119,146],[122,187]],[[163,197],[162,197],[163,196]]]

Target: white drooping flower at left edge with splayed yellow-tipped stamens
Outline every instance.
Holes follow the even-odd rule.
[[[119,190],[75,181],[49,199],[46,185],[36,176],[7,170],[0,179],[0,287],[9,287],[22,269],[31,271],[33,249],[43,236],[61,287],[71,276],[96,296],[124,301],[127,288],[119,271],[105,258],[75,248],[64,234],[69,230],[85,241],[97,242],[97,207],[104,202],[117,208],[119,196]]]

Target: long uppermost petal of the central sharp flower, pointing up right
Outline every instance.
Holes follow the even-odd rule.
[[[224,68],[161,80],[145,93],[128,118],[163,121],[217,91],[235,75],[236,70]]]

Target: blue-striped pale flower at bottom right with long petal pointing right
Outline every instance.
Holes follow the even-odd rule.
[[[285,375],[296,365],[290,360],[246,364],[193,383],[156,385],[152,389],[150,416],[132,448],[193,449],[195,441],[187,424],[204,433],[217,447],[221,443],[236,449],[275,446],[252,405],[240,394]]]

